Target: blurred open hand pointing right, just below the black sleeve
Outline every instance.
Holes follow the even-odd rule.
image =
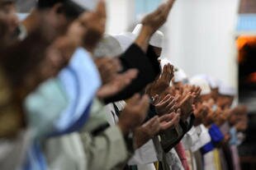
[[[138,71],[136,69],[130,69],[125,73],[118,74],[107,84],[102,85],[102,87],[97,91],[97,97],[99,99],[109,98],[121,90],[124,90],[127,85],[130,85],[131,81],[136,78]]]

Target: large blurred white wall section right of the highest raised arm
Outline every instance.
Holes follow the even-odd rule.
[[[235,25],[239,0],[178,0],[165,57],[188,75],[206,73],[237,86]]]

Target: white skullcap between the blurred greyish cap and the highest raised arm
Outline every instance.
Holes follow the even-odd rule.
[[[116,35],[113,35],[113,37],[120,44],[122,52],[125,52],[126,49],[129,48],[130,45],[133,44],[135,40],[135,35],[129,32],[124,34],[116,34]]]

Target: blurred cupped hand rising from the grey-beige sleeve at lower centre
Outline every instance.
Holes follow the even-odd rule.
[[[119,117],[118,125],[124,134],[130,131],[135,131],[135,128],[140,126],[145,120],[146,114],[149,110],[149,96],[144,95],[140,97],[139,94],[135,94],[126,103],[126,108]]]

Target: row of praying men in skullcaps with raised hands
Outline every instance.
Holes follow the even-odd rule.
[[[38,0],[22,19],[0,0],[0,169],[239,170],[247,108],[163,56],[174,2],[105,34],[104,0]]]

